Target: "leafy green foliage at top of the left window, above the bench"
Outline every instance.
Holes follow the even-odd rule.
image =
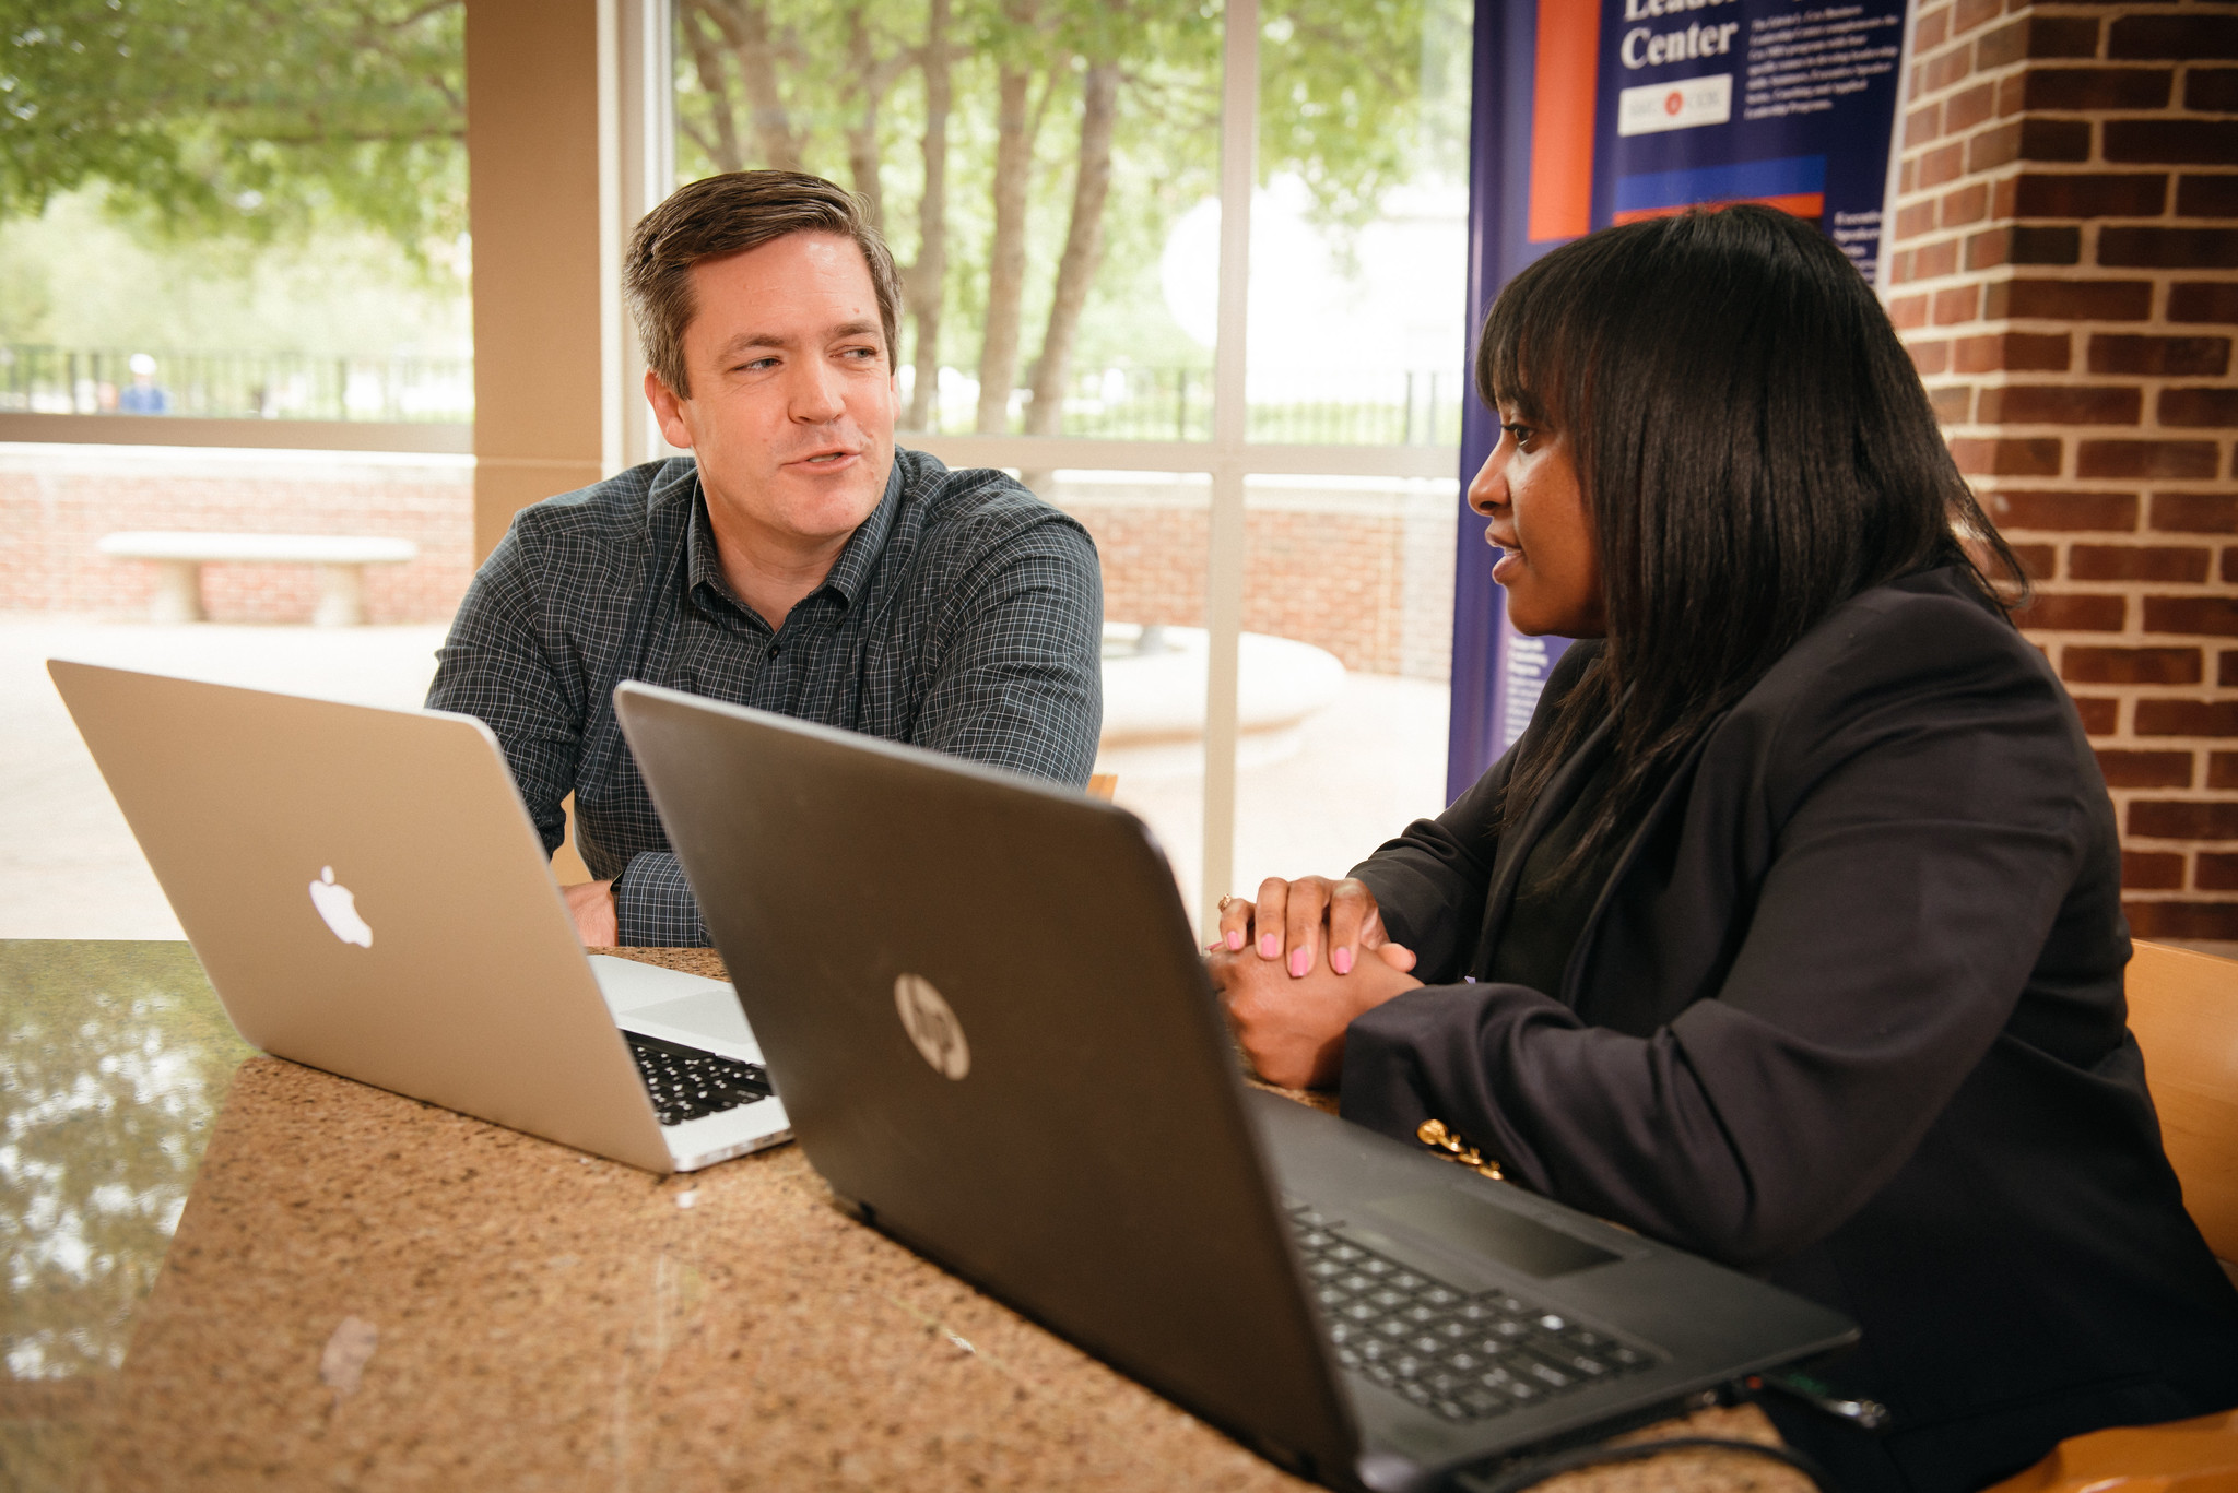
[[[94,181],[175,237],[466,231],[463,0],[7,0],[0,217]]]

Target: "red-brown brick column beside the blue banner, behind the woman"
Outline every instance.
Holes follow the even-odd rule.
[[[2037,582],[2140,938],[2238,949],[2238,7],[1920,0],[1889,313]]]

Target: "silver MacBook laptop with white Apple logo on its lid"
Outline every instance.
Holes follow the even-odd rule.
[[[47,672],[257,1048],[647,1171],[792,1137],[730,985],[584,956],[481,721]]]

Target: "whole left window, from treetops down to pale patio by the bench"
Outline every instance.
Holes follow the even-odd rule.
[[[47,656],[412,705],[472,575],[463,0],[43,0],[0,27],[0,938],[177,938]],[[309,564],[405,539],[374,627]]]

